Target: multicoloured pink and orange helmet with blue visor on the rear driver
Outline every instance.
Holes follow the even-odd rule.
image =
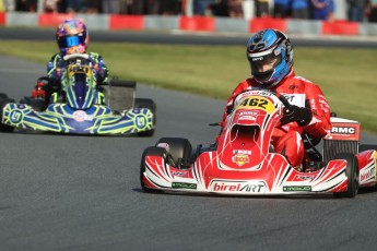
[[[86,25],[80,19],[64,20],[57,28],[56,39],[62,55],[84,53],[89,44]]]

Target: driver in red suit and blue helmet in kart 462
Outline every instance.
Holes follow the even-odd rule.
[[[318,85],[295,75],[292,44],[282,32],[268,28],[251,36],[247,58],[252,77],[233,91],[221,125],[225,125],[233,101],[240,93],[268,88],[283,94],[293,106],[285,109],[282,125],[274,129],[271,144],[275,153],[285,155],[290,164],[301,170],[305,156],[302,133],[323,138],[331,129],[330,107]]]

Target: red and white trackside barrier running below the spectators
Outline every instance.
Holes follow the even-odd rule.
[[[71,14],[55,13],[0,13],[0,25],[5,27],[56,27]],[[293,19],[254,17],[250,20],[212,16],[161,16],[161,15],[119,15],[119,14],[76,14],[91,29],[97,31],[185,31],[255,33],[263,28],[278,28],[287,34],[298,35],[347,35],[376,36],[377,24],[356,23],[344,20],[314,21]]]

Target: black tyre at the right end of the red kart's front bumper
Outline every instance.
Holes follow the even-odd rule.
[[[347,190],[345,192],[334,193],[335,198],[354,198],[358,191],[358,162],[354,154],[340,153],[333,159],[345,159],[345,175],[349,178]]]

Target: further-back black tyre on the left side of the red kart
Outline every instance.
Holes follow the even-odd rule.
[[[157,141],[160,143],[166,143],[169,145],[169,154],[177,165],[179,162],[188,164],[190,162],[192,146],[191,143],[184,138],[162,138]],[[176,166],[179,168],[179,166]]]

